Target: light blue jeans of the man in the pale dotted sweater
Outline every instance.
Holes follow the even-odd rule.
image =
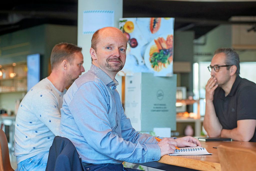
[[[39,153],[34,157],[30,157],[19,162],[15,171],[45,171],[49,152]]]

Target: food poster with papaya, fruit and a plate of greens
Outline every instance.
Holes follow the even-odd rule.
[[[123,72],[173,76],[174,18],[120,18],[127,40]]]

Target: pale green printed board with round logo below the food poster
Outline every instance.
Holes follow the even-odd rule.
[[[154,77],[140,72],[125,77],[125,114],[136,131],[176,130],[176,85],[176,74]]]

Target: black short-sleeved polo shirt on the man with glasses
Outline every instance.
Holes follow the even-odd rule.
[[[237,76],[227,97],[222,88],[215,90],[213,104],[223,129],[236,128],[238,120],[256,119],[256,84]],[[256,129],[250,141],[256,142]]]

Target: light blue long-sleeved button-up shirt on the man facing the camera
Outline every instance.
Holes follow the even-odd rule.
[[[158,161],[161,150],[155,137],[133,129],[117,85],[92,65],[63,96],[60,136],[72,141],[83,163]]]

